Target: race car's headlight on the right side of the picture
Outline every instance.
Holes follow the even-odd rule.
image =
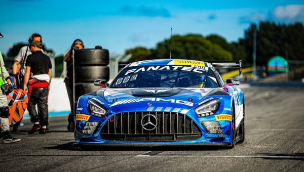
[[[218,99],[212,99],[198,108],[195,109],[195,112],[198,117],[202,116],[208,116],[208,115],[213,115],[219,107],[219,100]]]

